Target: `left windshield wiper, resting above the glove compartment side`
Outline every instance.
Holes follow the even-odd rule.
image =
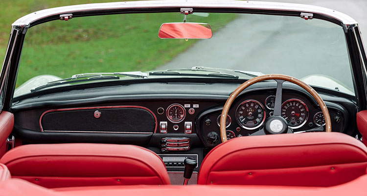
[[[63,84],[71,84],[71,83],[77,83],[77,82],[87,82],[87,81],[93,81],[93,80],[111,80],[111,79],[120,79],[117,75],[124,75],[129,77],[136,77],[136,78],[145,78],[148,77],[147,73],[142,72],[115,72],[115,73],[79,73],[72,75],[69,78],[61,79],[61,80],[55,80],[52,82],[48,82],[42,86],[39,86],[37,88],[31,89],[31,92],[36,92],[48,87],[53,86],[59,86]]]

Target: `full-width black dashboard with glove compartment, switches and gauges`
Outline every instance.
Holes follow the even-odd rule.
[[[240,83],[137,83],[72,90],[15,103],[14,135],[21,144],[112,143],[147,147],[163,159],[196,156],[198,169],[206,153],[221,143],[219,119],[227,98]],[[243,91],[229,109],[228,138],[249,137],[272,115],[275,82]],[[323,91],[332,130],[356,132],[356,103]],[[294,84],[284,84],[282,116],[293,132],[322,131],[317,102]],[[250,136],[251,137],[251,136]],[[18,141],[19,141],[18,140]],[[168,156],[168,157],[167,157]],[[168,171],[181,171],[167,162]],[[176,165],[173,165],[176,164]]]

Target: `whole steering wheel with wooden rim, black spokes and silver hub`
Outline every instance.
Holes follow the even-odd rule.
[[[223,110],[222,110],[222,117],[220,120],[220,131],[221,131],[221,139],[222,142],[227,142],[227,133],[226,133],[226,121],[227,121],[227,114],[229,111],[230,106],[232,105],[233,101],[237,96],[247,87],[250,85],[264,81],[264,80],[270,80],[274,79],[276,81],[276,93],[275,93],[275,105],[274,105],[274,114],[273,116],[269,117],[265,123],[263,128],[260,128],[259,131],[255,132],[256,134],[252,135],[266,135],[266,134],[281,134],[281,133],[292,133],[288,129],[288,124],[286,120],[281,117],[281,104],[282,104],[282,86],[284,81],[292,82],[294,84],[297,84],[298,86],[305,89],[307,92],[309,92],[313,98],[316,99],[316,101],[319,103],[321,107],[321,111],[323,113],[323,116],[325,117],[325,131],[331,132],[331,120],[329,111],[327,110],[327,107],[325,103],[323,102],[322,98],[319,96],[319,94],[311,88],[306,83],[302,82],[301,80],[288,76],[288,75],[282,75],[282,74],[267,74],[267,75],[260,75],[257,77],[254,77],[245,83],[241,84],[234,92],[229,96],[229,98],[226,101],[226,104],[224,104]]]

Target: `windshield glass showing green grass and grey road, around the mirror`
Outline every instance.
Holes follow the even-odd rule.
[[[122,14],[31,27],[14,97],[85,82],[152,77],[250,79],[261,73],[287,74],[313,86],[354,95],[344,31],[339,25],[290,16],[194,13],[187,16],[187,22],[209,24],[210,39],[158,37],[162,23],[183,21],[180,13]],[[197,72],[192,71],[194,66],[227,70]],[[116,72],[120,74],[111,77]],[[258,73],[244,74],[248,72]],[[80,73],[98,74],[72,81]],[[69,78],[62,80],[68,82],[54,82],[63,78]]]

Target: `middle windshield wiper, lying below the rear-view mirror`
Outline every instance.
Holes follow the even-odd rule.
[[[185,69],[181,69],[184,71]],[[187,69],[187,71],[190,69]],[[155,72],[149,72],[149,75],[180,75],[180,76],[214,76],[214,77],[222,77],[222,78],[235,78],[238,79],[239,77],[237,75],[232,75],[229,73],[221,73],[221,72],[215,72],[215,73],[181,73],[173,70],[167,70],[167,71],[155,71]]]

